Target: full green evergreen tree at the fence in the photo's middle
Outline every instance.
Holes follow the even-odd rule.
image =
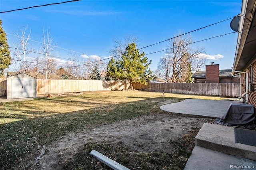
[[[147,79],[152,79],[152,71],[148,69],[151,60],[144,57],[144,52],[139,53],[136,44],[128,44],[126,51],[122,53],[120,60],[115,61],[113,58],[108,62],[106,74],[112,79],[130,81],[130,89],[133,90],[133,82],[147,84]]]

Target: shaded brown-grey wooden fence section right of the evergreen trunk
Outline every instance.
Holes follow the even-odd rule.
[[[165,93],[239,97],[237,83],[134,83],[135,89]]]

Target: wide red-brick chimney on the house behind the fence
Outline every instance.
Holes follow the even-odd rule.
[[[218,64],[211,63],[211,65],[205,66],[206,83],[220,83],[219,75],[220,71]]]

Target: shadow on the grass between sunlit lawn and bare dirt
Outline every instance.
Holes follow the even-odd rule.
[[[50,144],[69,132],[81,128],[106,125],[115,121],[134,119],[152,112],[163,113],[159,109],[158,102],[164,101],[164,99],[164,97],[149,98],[121,104],[110,105],[107,103],[104,106],[99,106],[99,103],[76,101],[82,105],[93,104],[95,107],[67,113],[47,113],[51,115],[44,115],[45,113],[42,114],[42,111],[22,111],[27,115],[44,115],[30,119],[24,119],[19,114],[16,116],[13,114],[14,117],[24,120],[0,125],[0,169],[15,169],[25,158],[24,156],[32,154],[32,151],[36,150],[39,144]],[[64,102],[62,98],[38,100],[52,100],[54,103]],[[29,104],[26,107],[29,107]],[[15,109],[19,110],[18,108]],[[10,118],[9,115],[8,117]]]

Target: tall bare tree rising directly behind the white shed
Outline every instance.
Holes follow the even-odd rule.
[[[27,62],[29,52],[34,51],[33,48],[28,49],[29,40],[31,39],[31,30],[28,32],[28,26],[20,28],[20,33],[16,32],[15,36],[18,42],[13,43],[15,49],[13,50],[14,55],[17,58],[19,71],[22,73],[28,73],[30,63]]]

